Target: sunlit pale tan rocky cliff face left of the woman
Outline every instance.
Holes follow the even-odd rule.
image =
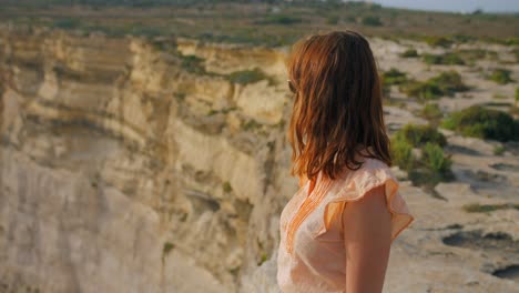
[[[262,65],[283,80],[283,52],[7,29],[0,41],[4,284],[233,292],[271,259],[296,188],[288,97],[228,77]]]

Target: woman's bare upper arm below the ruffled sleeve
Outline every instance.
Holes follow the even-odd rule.
[[[346,293],[380,293],[389,260],[391,214],[385,186],[348,202],[343,211]]]

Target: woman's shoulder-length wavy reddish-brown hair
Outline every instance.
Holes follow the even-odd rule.
[[[352,30],[298,40],[287,59],[294,105],[288,128],[292,175],[335,179],[360,154],[391,165],[381,85],[368,41]],[[360,151],[367,150],[362,154]]]

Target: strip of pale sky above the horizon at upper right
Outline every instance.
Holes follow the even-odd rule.
[[[384,7],[401,7],[420,10],[451,12],[519,12],[519,0],[373,0]]]

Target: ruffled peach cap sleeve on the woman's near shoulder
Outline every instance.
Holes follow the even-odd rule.
[[[414,221],[409,209],[399,193],[399,183],[391,170],[384,162],[368,159],[357,171],[353,171],[339,185],[330,200],[325,203],[324,222],[318,234],[324,234],[330,225],[330,221],[340,219],[346,203],[360,200],[366,193],[379,185],[385,185],[386,202],[391,213],[391,243]],[[330,209],[333,208],[333,209]],[[347,229],[345,226],[344,229]]]

